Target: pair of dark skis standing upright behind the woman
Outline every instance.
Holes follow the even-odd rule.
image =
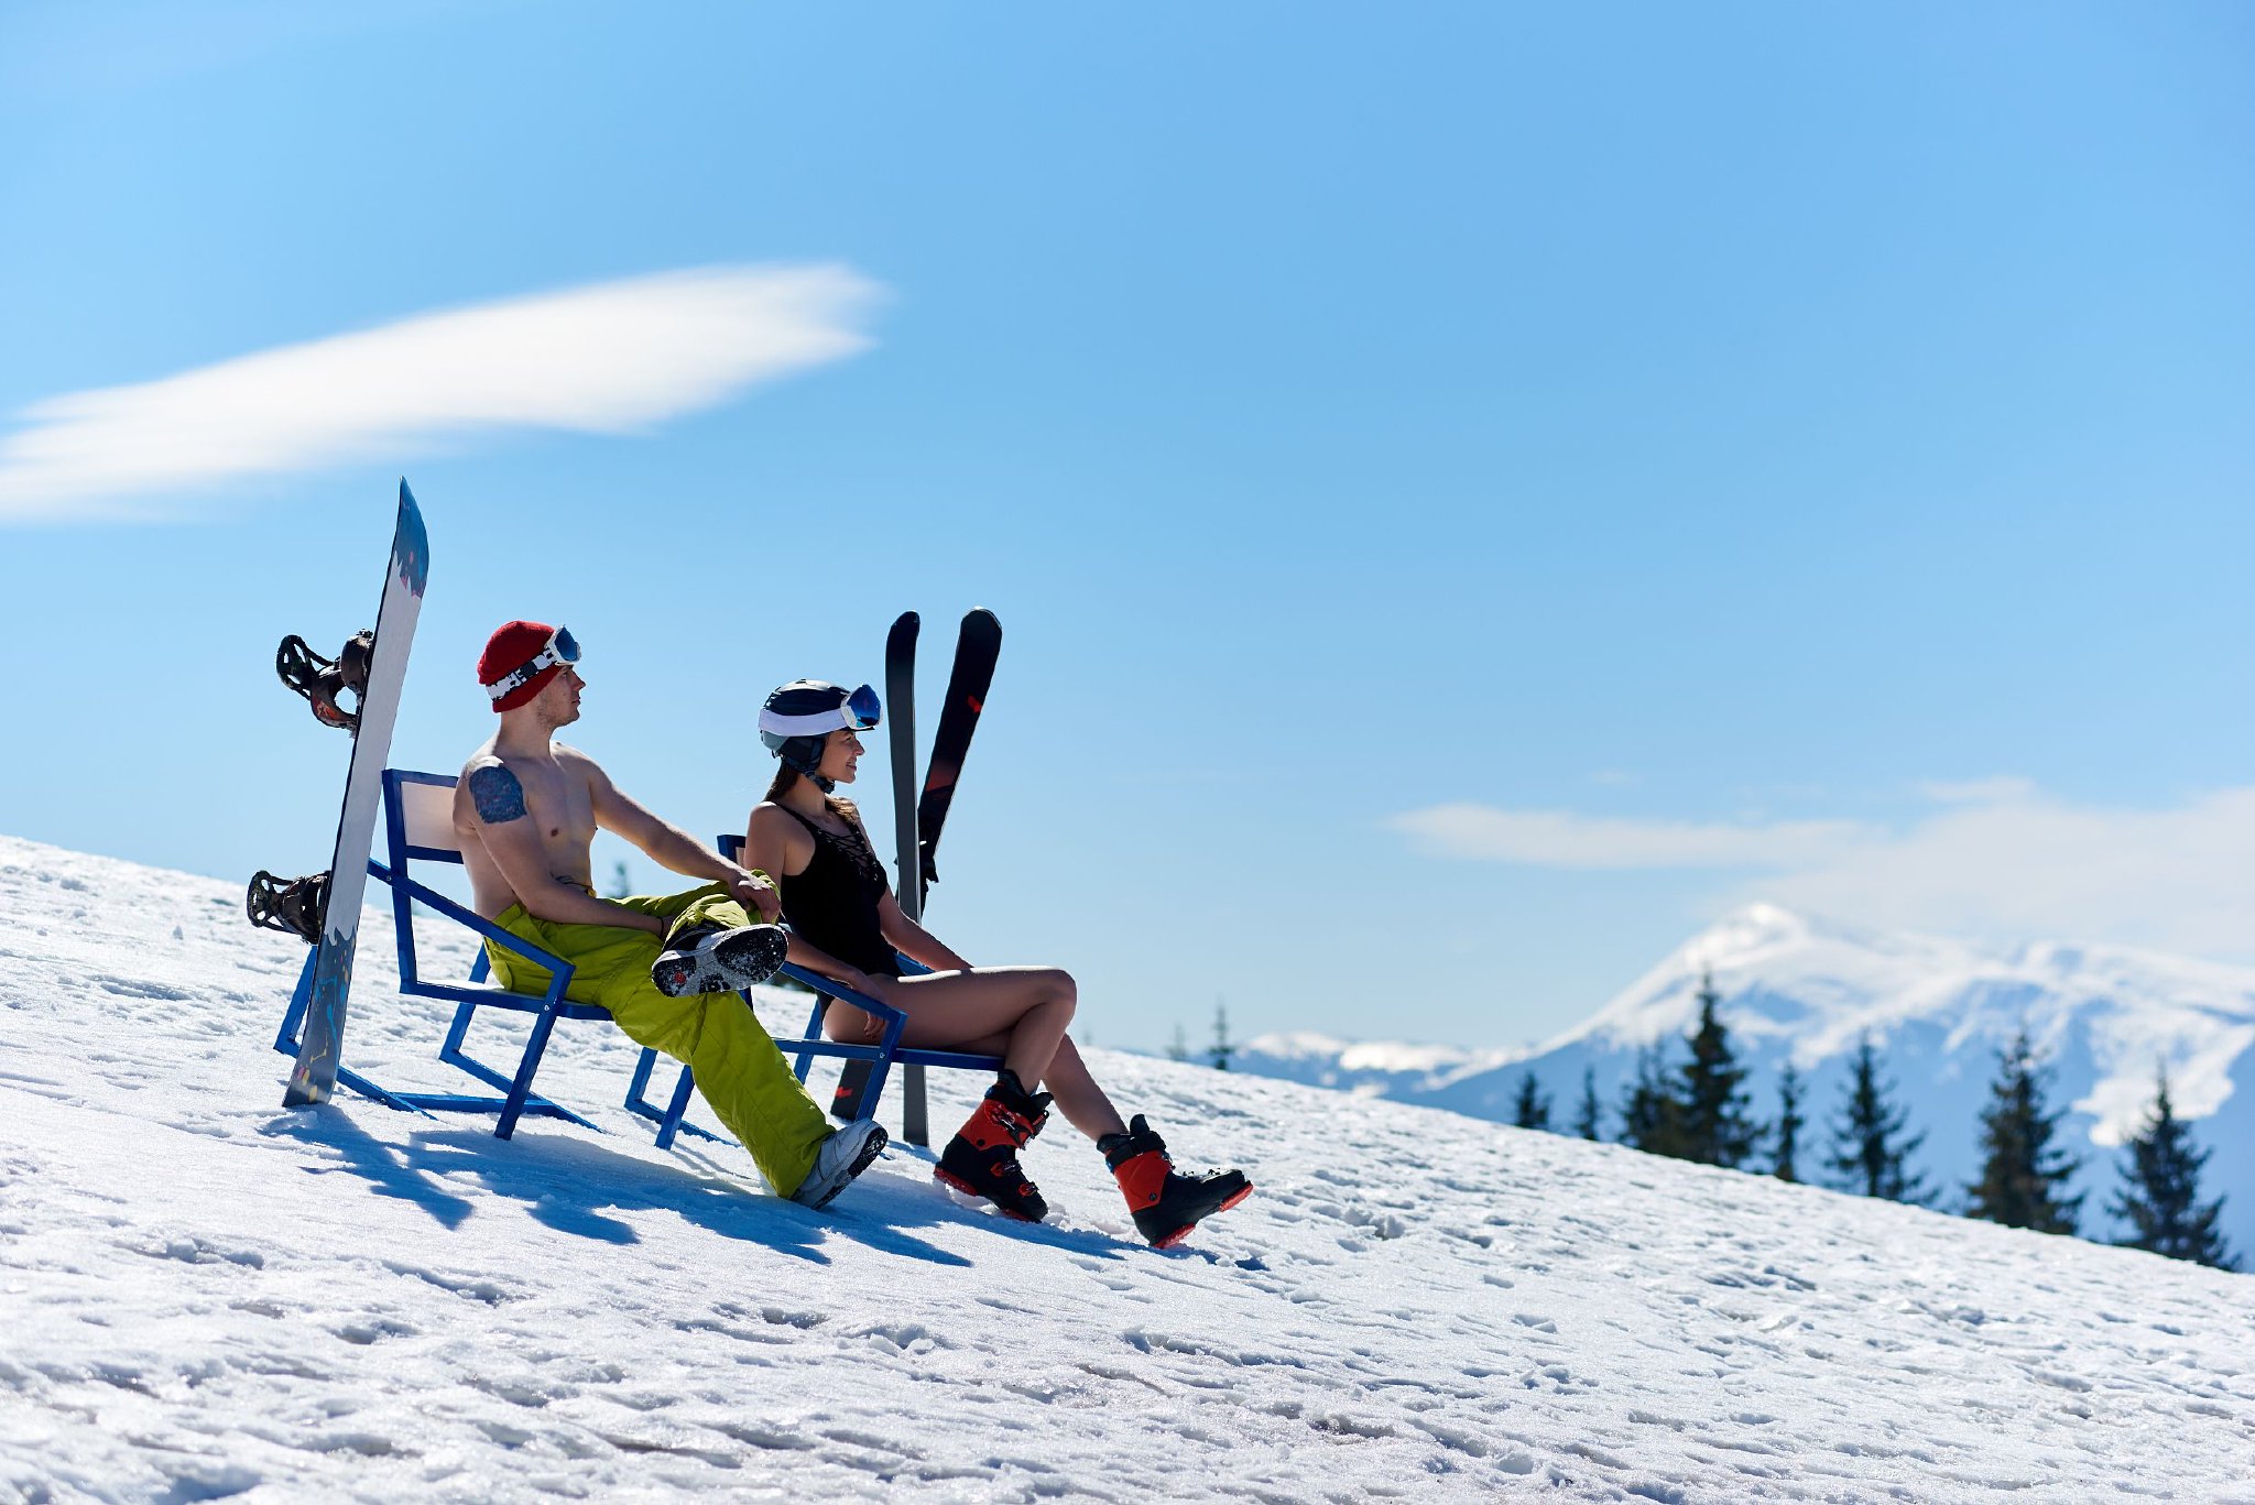
[[[994,659],[1001,654],[1001,623],[985,607],[974,607],[956,632],[956,663],[947,675],[947,699],[940,704],[940,731],[931,742],[931,772],[922,794],[916,794],[916,611],[902,611],[884,639],[884,704],[891,713],[893,751],[893,837],[900,884],[893,896],[911,921],[925,918],[925,889],[934,882],[931,853],[938,851],[947,808],[956,796],[963,756],[970,751],[988,686],[994,681]],[[839,1072],[830,1112],[852,1119],[861,1112],[870,1065],[848,1060]],[[900,1128],[909,1144],[931,1144],[925,1112],[925,1067],[902,1067]]]

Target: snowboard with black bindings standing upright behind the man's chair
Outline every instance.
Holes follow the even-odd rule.
[[[399,688],[406,681],[408,648],[415,643],[415,618],[422,611],[428,573],[431,537],[424,533],[415,494],[401,481],[392,557],[383,571],[383,600],[377,607],[374,632],[352,639],[334,661],[313,654],[304,639],[284,639],[275,654],[282,681],[307,697],[313,715],[325,727],[352,733],[352,765],[345,774],[345,801],[336,817],[329,871],[289,884],[280,884],[271,873],[250,880],[250,921],[273,930],[295,930],[318,948],[311,1002],[304,1013],[304,1040],[282,1097],[284,1108],[322,1103],[336,1092],[336,1070],[345,1042],[345,1000],[352,991],[352,952],[361,927],[361,894],[368,887],[368,851],[377,833],[383,760],[392,749]],[[336,702],[341,690],[359,695],[359,704],[350,713]]]

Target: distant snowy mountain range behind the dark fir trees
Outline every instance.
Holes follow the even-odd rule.
[[[2255,968],[2151,952],[2030,943],[1984,950],[1937,936],[1860,930],[1750,905],[1700,932],[1576,1029],[1522,1051],[1344,1042],[1310,1033],[1247,1040],[1233,1070],[1342,1088],[1484,1119],[1513,1115],[1520,1081],[1536,1076],[1563,1128],[1594,1072],[1606,1135],[1637,1054],[1682,1038],[1698,1018],[1700,977],[1723,997],[1721,1018],[1750,1067],[1754,1110],[1777,1115],[1777,1074],[1790,1060],[1804,1079],[1802,1176],[1818,1178],[1847,1063],[1869,1031],[1910,1130],[1926,1133],[1914,1158],[1937,1205],[1955,1207],[1978,1167],[1978,1112],[1996,1051],[2023,1024],[2050,1058],[2052,1106],[2070,1108],[2063,1142],[2081,1153],[2081,1227],[2115,1236],[2117,1146],[2154,1099],[2154,1072],[2194,1139],[2214,1151],[2203,1194],[2223,1194],[2232,1248],[2255,1264]],[[1673,1045],[1671,1045],[1673,1049]],[[1669,1060],[1678,1060],[1673,1049]]]

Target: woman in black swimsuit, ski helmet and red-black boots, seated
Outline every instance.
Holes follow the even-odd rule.
[[[1067,1121],[1096,1139],[1128,1196],[1137,1230],[1155,1246],[1179,1243],[1200,1218],[1252,1196],[1243,1171],[1182,1176],[1143,1115],[1121,1124],[1112,1099],[1064,1033],[1073,1022],[1073,979],[1044,966],[979,966],[936,941],[900,912],[870,848],[861,815],[832,790],[852,783],[861,738],[877,724],[868,686],[846,693],[801,679],[767,697],[760,740],[782,767],[744,833],[744,866],[782,884],[782,918],[792,927],[789,959],[839,986],[909,1015],[900,1042],[1001,1056],[1001,1076],[979,1110],[940,1153],[934,1178],[994,1203],[1012,1218],[1049,1214],[1026,1180],[1017,1151],[1049,1119],[1055,1101]],[[895,957],[931,972],[902,977]],[[832,1040],[875,1042],[879,1022],[834,1002],[825,1018]],[[1049,1088],[1040,1092],[1037,1088]]]

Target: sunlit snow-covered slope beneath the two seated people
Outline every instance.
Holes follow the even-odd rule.
[[[602,1135],[282,1112],[237,905],[0,839],[0,1500],[2255,1500],[2250,1277],[1112,1051],[1258,1180],[1195,1248],[1062,1124],[1055,1225],[909,1153],[812,1214],[595,1024]],[[350,1056],[446,1083],[383,952]]]

